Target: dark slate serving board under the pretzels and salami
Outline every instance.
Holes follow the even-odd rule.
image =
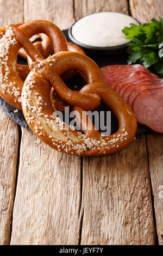
[[[71,41],[70,38],[68,37],[68,29],[66,29],[63,32],[64,32],[67,40]],[[91,55],[88,54],[88,56],[98,64],[99,68],[102,68],[103,66],[107,66],[107,65],[127,64],[127,54],[126,53],[118,53],[118,54],[114,54],[114,55],[110,55],[110,56],[105,56],[105,55],[95,56],[92,54]],[[27,62],[24,59],[22,59],[21,57],[18,57],[18,63],[19,64],[27,64]],[[70,80],[67,80],[66,84],[71,89],[74,89],[75,85],[77,85],[78,89],[80,89],[84,86],[85,81],[80,76],[76,76],[74,78],[71,78]],[[2,99],[1,96],[0,96],[0,106],[3,109],[3,111],[5,112],[5,114],[7,114],[18,125],[23,126],[26,129],[30,129],[28,124],[26,123],[26,120],[24,119],[23,112],[18,110],[18,112],[15,113],[14,111],[16,110],[16,108],[9,105],[6,101],[4,101]],[[108,110],[109,111],[110,109],[102,104],[98,110]],[[111,133],[114,133],[117,130],[118,130],[118,122],[117,122],[117,119],[116,119],[114,113],[111,112]],[[137,129],[136,135],[145,133],[148,130],[149,129],[146,126],[138,124],[138,129]]]

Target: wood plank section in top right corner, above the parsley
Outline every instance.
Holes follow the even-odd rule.
[[[162,0],[129,0],[131,15],[141,23],[163,16]]]

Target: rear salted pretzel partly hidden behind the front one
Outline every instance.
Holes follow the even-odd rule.
[[[53,42],[54,52],[67,50],[64,34],[53,23],[36,20],[16,27],[9,25],[5,35],[0,40],[0,95],[10,105],[22,109],[21,92],[23,81],[17,72],[17,52],[23,46],[33,61],[43,60],[41,54],[28,38],[33,35],[46,34]]]

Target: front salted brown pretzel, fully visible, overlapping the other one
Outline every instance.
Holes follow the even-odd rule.
[[[62,153],[88,156],[108,155],[127,147],[133,141],[137,123],[127,103],[114,90],[103,83],[103,77],[97,64],[89,57],[74,52],[54,54],[41,63],[30,65],[22,91],[22,109],[30,129],[41,141]],[[88,83],[79,92],[67,88],[60,76],[76,70]],[[103,100],[117,116],[118,131],[110,136],[101,136],[93,129],[88,130],[89,119],[84,123],[84,135],[74,130],[57,116],[49,99],[51,87],[59,96],[74,105],[74,111],[96,109]],[[77,116],[79,121],[80,116]]]

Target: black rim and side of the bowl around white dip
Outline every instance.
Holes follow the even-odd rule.
[[[83,17],[81,19],[83,19]],[[136,20],[136,19],[134,19],[134,20]],[[141,25],[141,23],[138,20],[136,20],[136,21]],[[76,21],[76,22],[78,22],[78,21]],[[74,22],[73,25],[76,22]],[[116,54],[116,53],[124,52],[124,51],[127,50],[127,44],[129,42],[127,42],[126,44],[122,44],[122,45],[107,46],[107,47],[98,47],[98,46],[85,45],[82,42],[77,41],[74,38],[74,36],[72,35],[72,27],[73,27],[73,25],[68,29],[68,36],[69,36],[70,40],[72,42],[74,42],[74,44],[82,47],[86,53],[91,53],[91,54],[108,54],[108,55],[110,55],[110,54]]]

